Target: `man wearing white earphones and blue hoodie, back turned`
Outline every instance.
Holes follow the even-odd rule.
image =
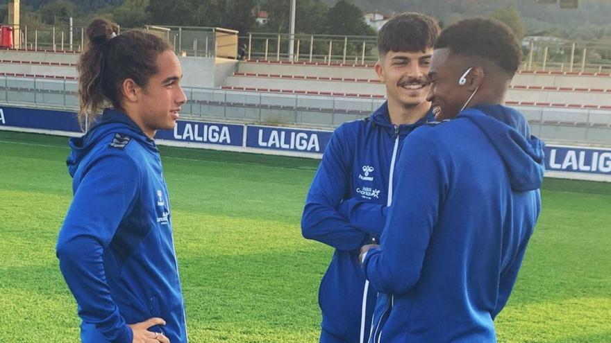
[[[405,139],[380,245],[361,249],[380,293],[369,342],[496,342],[541,202],[543,143],[501,105],[521,59],[491,19],[435,44],[428,100],[442,123]]]

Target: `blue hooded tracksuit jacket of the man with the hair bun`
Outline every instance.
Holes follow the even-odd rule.
[[[169,196],[155,143],[110,109],[67,160],[74,199],[57,243],[78,304],[83,342],[131,343],[127,324],[161,317],[172,343],[187,342]]]

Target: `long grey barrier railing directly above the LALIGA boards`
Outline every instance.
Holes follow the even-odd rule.
[[[185,88],[186,119],[333,129],[364,118],[383,98],[276,94],[225,89]],[[78,109],[75,80],[0,76],[0,104]],[[520,106],[533,134],[557,142],[611,145],[611,111]]]

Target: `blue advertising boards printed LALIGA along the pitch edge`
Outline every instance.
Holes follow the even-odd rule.
[[[0,130],[78,136],[72,112],[0,107]],[[183,146],[320,158],[332,132],[294,127],[179,120],[174,130],[160,130],[156,142]],[[545,148],[546,176],[611,182],[611,149],[549,145]]]

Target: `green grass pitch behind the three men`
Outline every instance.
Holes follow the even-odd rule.
[[[0,132],[0,342],[78,342],[55,257],[66,141]],[[317,342],[332,250],[299,222],[318,161],[160,149],[190,342]],[[546,179],[542,196],[499,342],[611,342],[611,184]]]

